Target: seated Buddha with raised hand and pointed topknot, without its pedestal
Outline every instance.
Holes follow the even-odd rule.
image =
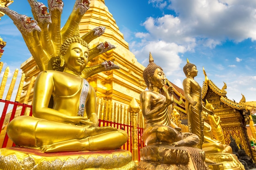
[[[199,142],[198,136],[181,133],[181,128],[170,119],[168,106],[173,103],[173,90],[170,86],[165,96],[162,95],[166,77],[163,69],[154,63],[151,53],[143,77],[148,87],[148,91],[143,91],[140,95],[141,110],[146,120],[142,135],[144,143],[196,146]]]

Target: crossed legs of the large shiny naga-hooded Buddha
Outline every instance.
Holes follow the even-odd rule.
[[[17,146],[44,152],[110,150],[121,147],[128,139],[124,130],[109,126],[88,128],[29,116],[13,119],[7,134]]]

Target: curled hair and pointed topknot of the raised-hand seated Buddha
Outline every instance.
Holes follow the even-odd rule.
[[[163,71],[162,67],[157,66],[157,64],[154,63],[154,59],[153,59],[151,53],[149,52],[149,64],[143,71],[143,78],[144,78],[147,86],[149,86],[148,75],[149,75],[149,77],[152,77],[157,68],[160,68]]]

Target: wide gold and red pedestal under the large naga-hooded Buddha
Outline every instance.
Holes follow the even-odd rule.
[[[136,170],[127,150],[44,153],[11,147],[0,149],[2,170]]]

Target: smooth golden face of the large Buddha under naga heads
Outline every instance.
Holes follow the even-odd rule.
[[[65,67],[81,73],[88,62],[89,49],[78,42],[73,42],[64,55]]]

